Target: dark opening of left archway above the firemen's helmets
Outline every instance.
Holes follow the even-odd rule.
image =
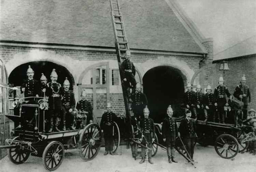
[[[51,82],[51,72],[53,69],[56,69],[58,74],[57,82],[62,85],[65,78],[68,77],[71,87],[70,89],[73,90],[73,85],[75,84],[73,75],[68,71],[67,68],[50,61],[32,61],[16,67],[9,76],[9,83],[13,86],[22,85],[23,80],[27,78],[28,65],[30,65],[34,70],[34,79],[38,81],[40,81],[41,74],[44,73],[48,82]]]

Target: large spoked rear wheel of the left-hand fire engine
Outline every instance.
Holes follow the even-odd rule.
[[[89,161],[96,157],[100,150],[101,137],[101,129],[97,124],[89,124],[83,129],[78,144],[83,160]]]

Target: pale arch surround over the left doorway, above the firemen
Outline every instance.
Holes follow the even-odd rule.
[[[77,78],[74,75],[76,69],[77,60],[74,60],[66,55],[57,54],[55,51],[43,51],[39,49],[33,49],[28,53],[17,53],[14,57],[5,64],[6,72],[8,75],[18,66],[33,61],[49,61],[65,67],[73,76],[72,83],[76,83]]]

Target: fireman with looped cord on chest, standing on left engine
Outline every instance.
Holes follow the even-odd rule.
[[[61,114],[62,103],[61,96],[63,95],[63,87],[61,87],[60,83],[57,83],[58,75],[53,69],[51,73],[52,82],[47,83],[48,92],[49,92],[49,115],[50,118],[50,129],[48,132],[52,132],[53,130],[59,132],[58,129],[58,117]]]

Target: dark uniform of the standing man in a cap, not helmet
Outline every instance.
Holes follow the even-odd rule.
[[[196,138],[196,124],[194,119],[187,119],[184,118],[181,120],[181,124],[179,127],[179,131],[181,133],[181,137],[185,142],[185,146],[187,151],[193,159],[194,155],[194,145],[195,145],[195,138]],[[189,157],[187,155],[187,157]]]

